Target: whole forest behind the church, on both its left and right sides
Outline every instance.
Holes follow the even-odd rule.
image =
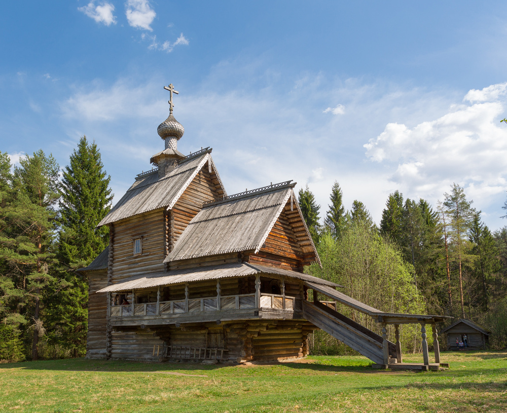
[[[14,167],[0,152],[0,360],[85,354],[88,284],[76,270],[108,244],[108,228],[96,225],[111,209],[110,179],[86,137],[62,170],[42,150]],[[390,194],[378,226],[363,203],[345,210],[342,197],[335,182],[321,217],[309,187],[299,192],[322,261],[310,274],[382,311],[471,319],[492,331],[492,347],[507,347],[507,227],[491,233],[456,184],[437,206]],[[404,351],[418,351],[419,339],[417,326],[404,326]],[[312,346],[344,348],[322,332]]]

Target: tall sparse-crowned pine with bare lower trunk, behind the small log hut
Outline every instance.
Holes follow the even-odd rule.
[[[461,186],[454,183],[451,192],[445,193],[445,214],[449,218],[451,241],[458,261],[459,293],[461,302],[461,317],[465,318],[463,301],[463,274],[462,264],[467,252],[467,231],[472,224],[475,209],[472,208],[473,201],[467,201]]]

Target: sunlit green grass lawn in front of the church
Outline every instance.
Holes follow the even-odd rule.
[[[445,352],[441,359],[449,370],[380,371],[360,356],[247,366],[85,359],[0,364],[0,411],[507,411],[507,351]]]

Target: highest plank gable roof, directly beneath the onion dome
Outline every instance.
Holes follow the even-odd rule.
[[[97,227],[159,208],[171,209],[207,162],[212,166],[225,194],[224,184],[210,154],[211,149],[205,148],[189,155],[179,160],[178,165],[160,179],[158,169],[137,175],[132,186]]]

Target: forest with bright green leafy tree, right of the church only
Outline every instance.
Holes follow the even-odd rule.
[[[322,261],[322,268],[309,268],[310,274],[344,285],[346,294],[381,311],[454,317],[448,324],[473,320],[492,332],[491,347],[507,347],[507,226],[492,233],[456,183],[435,207],[395,191],[378,226],[362,202],[353,201],[346,211],[342,198],[335,181],[321,222],[309,187],[299,191]],[[361,313],[340,311],[378,329]],[[418,351],[417,328],[404,325],[405,351]],[[339,350],[326,334],[316,334],[315,340],[317,351]]]

